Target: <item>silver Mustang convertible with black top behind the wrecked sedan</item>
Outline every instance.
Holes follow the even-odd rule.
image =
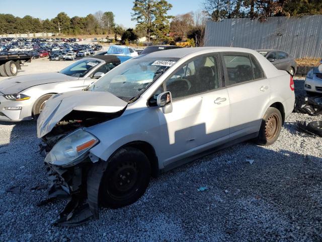
[[[23,75],[0,82],[0,120],[36,118],[55,93],[81,90],[121,64],[113,55],[85,57],[60,72]]]

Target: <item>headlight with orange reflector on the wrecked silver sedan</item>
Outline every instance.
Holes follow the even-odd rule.
[[[78,129],[69,134],[51,149],[45,158],[45,162],[64,167],[75,165],[83,160],[93,146],[99,140],[83,129]]]

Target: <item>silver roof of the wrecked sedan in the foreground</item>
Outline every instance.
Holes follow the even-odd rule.
[[[257,53],[255,50],[247,48],[236,48],[236,47],[190,47],[190,48],[176,48],[176,49],[166,49],[162,51],[155,51],[146,54],[144,57],[160,57],[160,58],[182,58],[188,54],[203,54],[205,52],[224,52],[224,51],[236,51],[236,52],[247,52],[247,53]]]

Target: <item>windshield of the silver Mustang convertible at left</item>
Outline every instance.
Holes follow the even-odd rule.
[[[79,61],[61,70],[59,73],[62,73],[71,77],[84,77],[89,71],[91,71],[98,64],[100,64],[100,62],[95,61],[94,59],[80,59]]]

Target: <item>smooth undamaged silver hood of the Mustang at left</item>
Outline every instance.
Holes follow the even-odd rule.
[[[58,72],[41,73],[23,75],[19,77],[10,77],[3,81],[0,81],[0,92],[4,94],[19,93],[29,87],[53,83],[53,82],[65,82],[68,80],[75,80],[78,77],[70,77]]]

